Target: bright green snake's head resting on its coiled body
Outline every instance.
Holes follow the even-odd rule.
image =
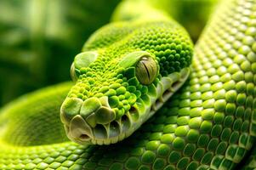
[[[76,84],[60,109],[61,122],[72,141],[114,144],[127,138],[185,82],[192,55],[190,39],[159,46],[157,36],[163,34],[149,37],[145,28],[138,30],[117,42],[105,40],[103,47],[98,32],[75,57],[71,77]],[[106,42],[111,44],[105,48]],[[164,48],[168,49],[162,52]]]

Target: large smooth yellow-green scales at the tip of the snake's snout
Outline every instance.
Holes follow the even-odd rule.
[[[84,101],[67,98],[61,106],[60,118],[65,124],[68,138],[78,144],[86,144],[92,139],[106,138],[106,129],[99,131],[99,125],[112,122],[116,119],[116,114],[111,109],[107,96],[100,99],[92,97]]]

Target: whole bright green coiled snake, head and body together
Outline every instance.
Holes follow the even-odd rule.
[[[0,169],[256,168],[256,2],[221,2],[194,52],[143,9],[88,39],[74,82],[3,107]]]

